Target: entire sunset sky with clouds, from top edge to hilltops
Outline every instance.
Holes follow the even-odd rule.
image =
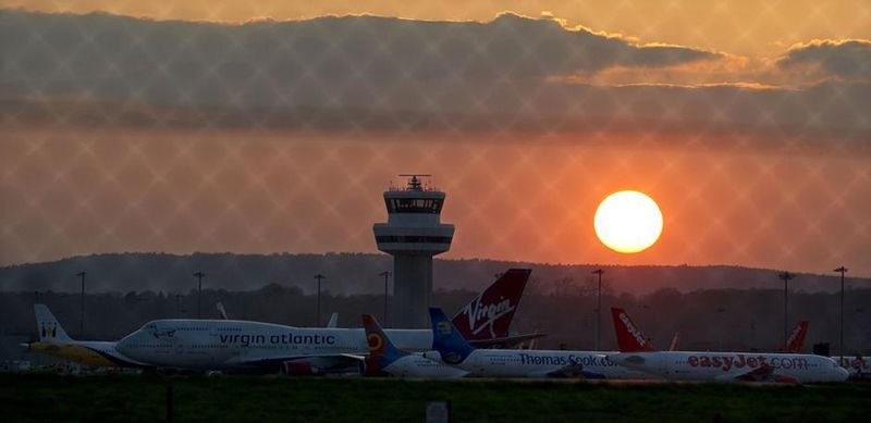
[[[316,3],[0,1],[0,265],[377,252],[419,172],[444,258],[871,276],[867,2]]]

